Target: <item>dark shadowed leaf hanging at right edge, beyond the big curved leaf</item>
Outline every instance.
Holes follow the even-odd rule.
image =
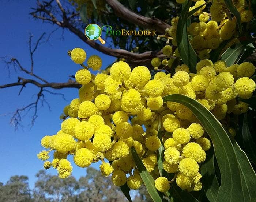
[[[256,165],[256,144],[254,143],[249,130],[247,114],[244,115],[242,136],[245,152],[254,165]]]

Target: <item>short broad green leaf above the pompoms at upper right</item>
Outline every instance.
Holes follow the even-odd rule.
[[[244,52],[244,45],[240,42],[231,45],[226,51],[221,55],[221,60],[225,61],[227,66],[235,64],[238,57]]]

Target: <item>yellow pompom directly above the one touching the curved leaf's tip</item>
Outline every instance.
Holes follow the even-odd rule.
[[[163,83],[157,79],[150,80],[145,86],[144,90],[148,96],[157,97],[163,93]]]

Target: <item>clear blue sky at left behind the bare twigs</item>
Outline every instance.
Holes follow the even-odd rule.
[[[33,40],[38,39],[43,32],[50,33],[56,26],[34,20],[29,15],[30,7],[35,6],[35,0],[1,0],[0,1],[0,57],[11,55],[17,58],[23,67],[30,67],[29,55],[29,32],[34,35]],[[77,36],[69,31],[64,32],[64,40],[60,40],[62,30],[59,29],[50,38],[50,44],[41,44],[34,54],[34,73],[45,78],[49,82],[67,82],[69,75],[74,75],[80,68],[74,64],[67,55],[69,49],[75,47],[84,48],[87,55],[98,54],[103,60],[103,68],[112,63],[115,58],[89,47]],[[19,70],[8,69],[3,62],[0,62],[1,74],[0,85],[17,82],[17,76],[30,78]],[[10,125],[10,118],[13,112],[20,107],[34,102],[39,88],[32,84],[27,84],[22,94],[18,96],[20,87],[0,89],[0,182],[5,183],[12,175],[27,175],[30,187],[33,187],[36,180],[35,174],[42,169],[43,162],[37,159],[36,154],[43,148],[40,140],[44,135],[53,135],[60,130],[61,121],[59,116],[62,108],[69,102],[78,97],[78,90],[64,89],[52,90],[65,94],[67,101],[61,96],[45,93],[46,100],[49,102],[51,111],[47,106],[38,110],[38,118],[30,130],[32,113],[22,117],[24,130],[14,130]],[[50,89],[49,89],[50,90]],[[93,166],[98,167],[97,164]],[[73,165],[73,175],[76,178],[85,174],[85,169]],[[48,170],[49,173],[56,174],[54,169]]]

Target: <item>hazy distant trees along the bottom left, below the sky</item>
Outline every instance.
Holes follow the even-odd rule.
[[[77,181],[74,177],[60,179],[40,170],[33,190],[27,176],[14,175],[4,185],[0,182],[0,202],[126,202],[120,188],[110,177],[103,177],[94,168],[87,168],[87,175]],[[135,202],[151,201],[145,188],[134,196]]]

